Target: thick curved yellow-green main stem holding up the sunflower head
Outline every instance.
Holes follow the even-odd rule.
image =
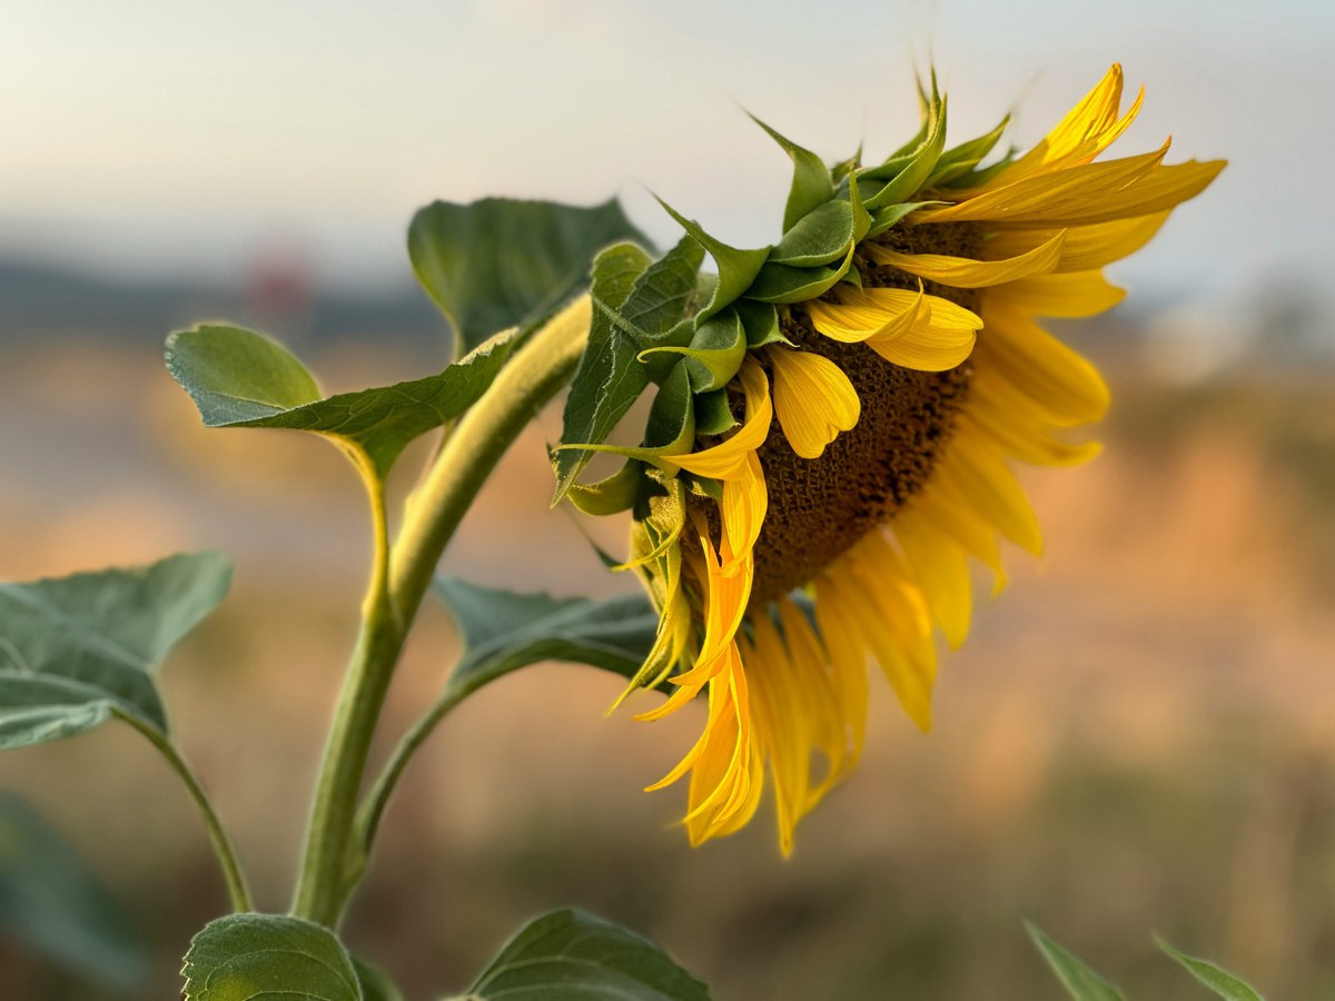
[[[392,550],[383,491],[378,480],[368,480],[376,537],[375,569],[316,783],[292,902],[292,913],[298,917],[338,926],[366,869],[370,840],[384,802],[407,758],[443,715],[437,715],[419,739],[406,739],[400,745],[368,795],[359,822],[356,803],[371,739],[403,642],[435,566],[497,462],[542,404],[570,380],[589,339],[589,296],[582,295],[529,338],[506,363],[495,382],[454,426],[430,471],[409,498]]]

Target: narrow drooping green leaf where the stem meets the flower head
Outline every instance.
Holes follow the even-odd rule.
[[[649,387],[649,372],[637,358],[641,347],[617,326],[617,311],[650,263],[649,255],[633,243],[618,243],[594,259],[589,347],[570,383],[561,432],[561,440],[567,444],[599,444]],[[593,452],[578,448],[557,452],[553,506],[566,495],[590,458]]]

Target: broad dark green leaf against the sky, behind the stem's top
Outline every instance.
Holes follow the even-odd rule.
[[[409,227],[409,256],[462,354],[554,312],[585,287],[594,255],[618,240],[647,243],[615,199],[581,208],[487,198],[421,210]]]

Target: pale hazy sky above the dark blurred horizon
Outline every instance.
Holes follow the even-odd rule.
[[[1226,308],[1327,287],[1332,45],[1300,0],[5,0],[0,256],[235,282],[276,247],[384,290],[415,208],[485,195],[619,195],[662,246],[657,194],[757,246],[789,165],[745,112],[884,155],[933,64],[953,141],[1013,111],[1024,145],[1120,61],[1147,99],[1113,155],[1231,165],[1113,276]]]

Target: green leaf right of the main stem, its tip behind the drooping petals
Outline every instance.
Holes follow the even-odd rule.
[[[450,690],[477,690],[542,661],[574,661],[625,678],[649,654],[658,615],[639,594],[594,601],[481,587],[438,577],[435,595],[459,629],[465,650]]]

